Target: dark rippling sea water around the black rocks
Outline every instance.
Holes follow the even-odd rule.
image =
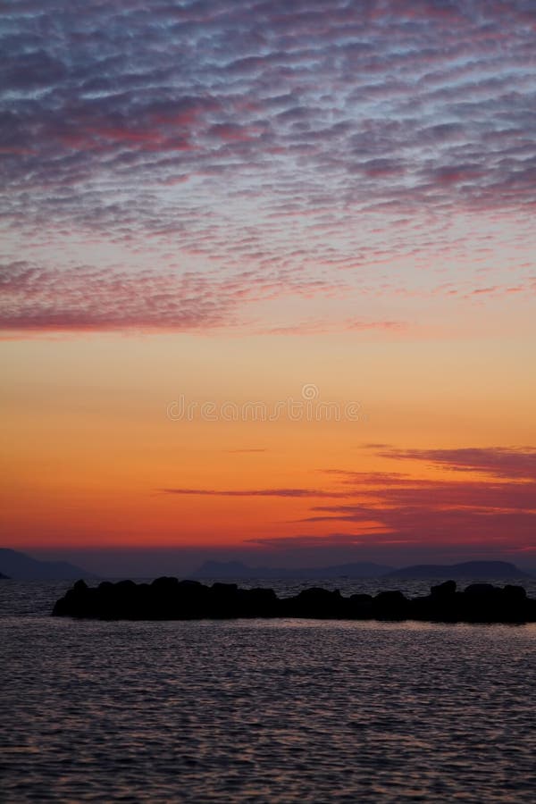
[[[49,617],[69,585],[0,583],[0,800],[536,800],[535,625]]]

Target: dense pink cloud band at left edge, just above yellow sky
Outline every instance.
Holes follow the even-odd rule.
[[[24,331],[136,328],[207,330],[239,324],[245,302],[330,293],[332,283],[266,272],[71,271],[17,261],[0,265],[0,329]]]

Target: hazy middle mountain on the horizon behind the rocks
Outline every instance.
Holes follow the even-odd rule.
[[[241,561],[205,561],[191,575],[192,578],[377,578],[391,569],[390,566],[360,561],[322,567],[247,566]]]

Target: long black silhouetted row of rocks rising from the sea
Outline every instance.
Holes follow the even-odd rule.
[[[103,620],[199,620],[235,617],[305,617],[340,620],[422,620],[442,623],[533,623],[536,600],[521,586],[473,583],[458,591],[455,581],[432,586],[429,595],[406,598],[399,590],[343,597],[313,587],[291,598],[272,589],[239,589],[236,583],[157,578],[152,583],[77,581],[57,600],[53,616]]]

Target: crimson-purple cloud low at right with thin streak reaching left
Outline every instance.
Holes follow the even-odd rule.
[[[277,549],[356,547],[438,549],[475,555],[511,555],[536,549],[536,448],[397,449],[369,445],[393,461],[444,472],[322,470],[330,488],[163,489],[166,494],[229,498],[297,498],[309,513],[303,525],[323,534],[262,536],[248,540]],[[484,478],[479,475],[484,474]],[[331,483],[333,485],[331,485]],[[322,501],[322,499],[324,501]],[[290,524],[286,523],[287,526]],[[348,532],[348,528],[351,532]]]

